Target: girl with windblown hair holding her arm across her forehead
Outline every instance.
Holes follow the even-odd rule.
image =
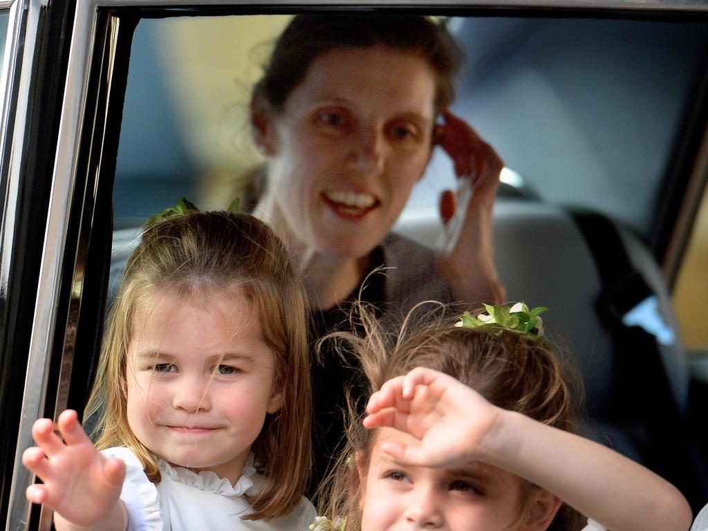
[[[578,387],[540,309],[488,310],[398,337],[364,312],[365,337],[333,335],[373,394],[313,529],[687,530],[678,490],[573,433]]]

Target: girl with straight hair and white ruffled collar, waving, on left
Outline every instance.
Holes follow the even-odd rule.
[[[184,206],[184,205],[183,205]],[[298,530],[314,508],[307,313],[249,215],[159,219],[127,262],[86,416],[33,427],[27,497],[57,530]],[[101,450],[100,452],[98,450]]]

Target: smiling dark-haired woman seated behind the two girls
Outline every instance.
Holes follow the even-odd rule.
[[[503,300],[491,246],[503,163],[447,110],[461,59],[445,24],[422,16],[295,16],[275,44],[251,100],[265,157],[254,214],[302,275],[314,337],[346,321],[356,297],[394,319],[426,299]],[[457,197],[440,200],[437,255],[391,232],[436,145],[459,177]],[[356,367],[327,352],[314,364],[314,481],[336,455]]]

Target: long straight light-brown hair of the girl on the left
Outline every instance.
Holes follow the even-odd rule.
[[[260,220],[230,212],[193,212],[163,219],[142,234],[127,261],[110,309],[101,360],[85,416],[99,416],[99,449],[130,448],[147,476],[160,473],[149,450],[135,438],[126,415],[126,358],[136,308],[156,292],[183,297],[208,292],[237,293],[253,305],[263,338],[275,358],[282,408],[265,419],[253,442],[265,475],[249,498],[247,520],[290,513],[300,501],[310,471],[310,377],[307,304],[299,278],[280,240]]]

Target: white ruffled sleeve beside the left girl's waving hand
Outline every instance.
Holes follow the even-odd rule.
[[[120,501],[127,510],[127,531],[163,531],[163,520],[157,489],[142,469],[135,454],[125,447],[101,450],[105,457],[117,457],[125,462],[125,479]]]

